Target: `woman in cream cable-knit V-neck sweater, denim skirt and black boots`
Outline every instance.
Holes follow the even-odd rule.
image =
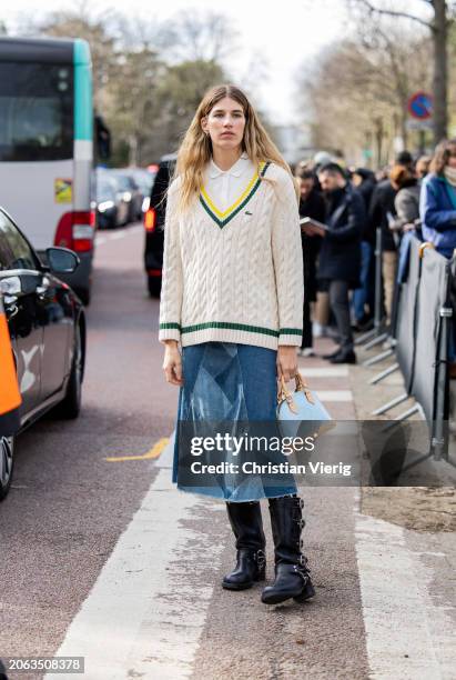
[[[245,94],[219,86],[201,101],[168,193],[159,339],[168,382],[180,386],[179,421],[274,421],[277,377],[297,372],[303,259],[290,168]],[[182,358],[178,343],[182,346]],[[184,442],[176,428],[173,481]],[[262,600],[314,594],[301,553],[303,502],[283,488],[191,489],[226,501],[236,542],[230,590],[265,578],[260,498],[268,498],[275,581]],[[183,488],[183,487],[180,487]]]

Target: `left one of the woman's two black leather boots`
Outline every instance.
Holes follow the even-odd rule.
[[[261,508],[257,501],[226,503],[231,528],[236,538],[237,561],[222,581],[227,590],[246,590],[255,581],[264,581],[266,557]]]

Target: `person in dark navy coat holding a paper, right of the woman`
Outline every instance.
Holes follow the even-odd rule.
[[[364,201],[337,163],[324,166],[318,180],[326,197],[326,229],[311,226],[308,231],[323,236],[317,277],[328,290],[341,344],[325,359],[332,363],[355,363],[348,291],[359,287]]]

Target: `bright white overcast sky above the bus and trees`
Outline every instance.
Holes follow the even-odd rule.
[[[55,9],[71,8],[67,0],[14,0],[1,16],[9,28],[18,12],[39,18]],[[262,73],[255,87],[255,103],[274,124],[295,124],[303,112],[296,109],[296,78],[303,64],[314,59],[322,47],[345,34],[344,0],[91,0],[97,14],[111,8],[131,16],[166,20],[180,10],[195,8],[225,14],[239,31],[235,53],[225,60],[233,82],[243,82],[252,67]]]

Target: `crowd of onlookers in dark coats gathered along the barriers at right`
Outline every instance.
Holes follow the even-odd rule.
[[[373,327],[375,244],[382,237],[384,323],[391,322],[398,250],[407,232],[452,258],[456,249],[456,139],[443,140],[433,157],[397,154],[377,173],[347,168],[318,152],[293,168],[301,189],[304,258],[304,332],[301,354],[313,339],[330,336],[337,350],[324,358],[355,363],[354,331]]]

